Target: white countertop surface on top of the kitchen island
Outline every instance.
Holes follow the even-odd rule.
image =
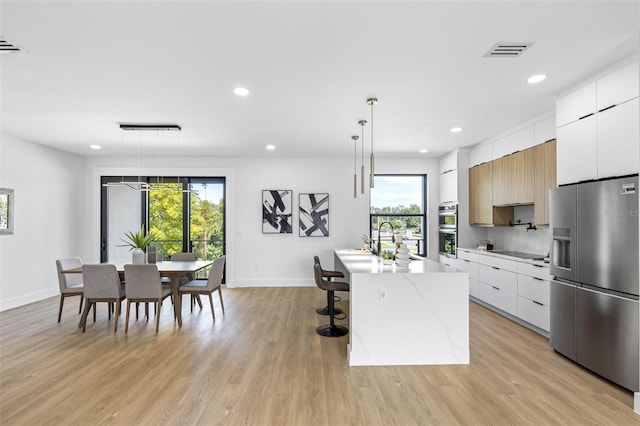
[[[362,249],[336,249],[336,256],[352,274],[431,274],[456,273],[458,270],[451,266],[434,262],[430,259],[413,259],[408,267],[383,265],[382,261],[368,251]]]

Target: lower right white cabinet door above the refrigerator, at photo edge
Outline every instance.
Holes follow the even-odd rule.
[[[598,178],[640,170],[639,113],[635,98],[597,114]]]

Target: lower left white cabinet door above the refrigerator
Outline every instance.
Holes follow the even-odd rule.
[[[596,179],[598,148],[595,115],[558,127],[557,136],[558,185]]]

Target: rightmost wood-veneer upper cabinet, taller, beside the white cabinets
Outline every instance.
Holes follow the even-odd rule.
[[[556,140],[532,148],[535,154],[535,196],[533,216],[536,225],[549,224],[549,189],[556,187]]]

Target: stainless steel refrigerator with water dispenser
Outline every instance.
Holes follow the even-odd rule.
[[[552,189],[550,228],[551,347],[639,391],[638,176]]]

